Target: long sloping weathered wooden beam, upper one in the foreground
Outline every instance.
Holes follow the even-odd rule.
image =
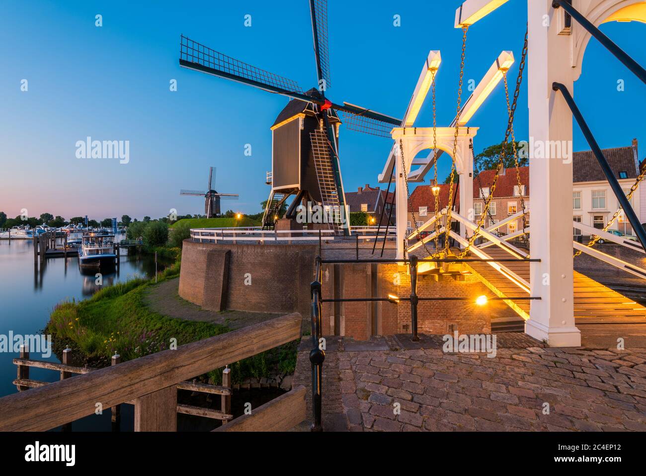
[[[0,431],[45,431],[300,338],[293,313],[0,398]],[[173,387],[176,391],[176,388]]]

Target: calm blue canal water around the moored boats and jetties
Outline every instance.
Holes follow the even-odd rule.
[[[116,239],[123,239],[117,236]],[[32,240],[0,240],[0,334],[8,336],[42,334],[50,312],[64,299],[87,299],[99,290],[94,272],[85,276],[78,267],[77,257],[64,259],[48,258],[43,266],[34,270],[34,244]],[[170,263],[158,260],[158,270]],[[116,267],[115,267],[116,268]],[[132,277],[154,277],[155,263],[151,255],[127,255],[121,250],[118,270],[103,274],[103,287],[127,281]],[[19,354],[9,349],[0,351],[0,396],[17,393],[16,365],[13,359]],[[35,354],[36,360],[60,362],[52,352],[49,358]],[[47,369],[30,368],[30,378],[44,382],[55,382],[60,373]],[[123,430],[132,429],[132,406],[123,405]],[[74,431],[110,431],[110,411],[103,415],[92,415],[72,424]]]

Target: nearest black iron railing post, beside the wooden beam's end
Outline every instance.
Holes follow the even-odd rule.
[[[316,259],[316,277],[310,285],[312,308],[311,308],[311,326],[312,326],[312,350],[309,352],[309,362],[312,364],[312,426],[311,431],[323,431],[321,424],[321,389],[323,362],[325,360],[325,351],[321,349],[321,276],[322,263],[321,257]]]

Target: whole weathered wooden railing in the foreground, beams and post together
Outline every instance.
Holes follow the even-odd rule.
[[[186,385],[185,380],[194,376],[297,340],[301,321],[300,314],[288,314],[176,350],[157,352],[5,396],[0,398],[0,431],[45,431],[93,415],[98,404],[107,409],[125,402],[134,403],[135,431],[176,431],[178,384]],[[245,415],[244,427],[256,431],[289,429],[305,418],[304,395],[304,389],[293,389],[252,409],[251,415]],[[285,402],[289,418],[284,418]],[[240,429],[242,423],[234,425],[235,422],[232,420],[221,431],[229,426],[232,430]]]

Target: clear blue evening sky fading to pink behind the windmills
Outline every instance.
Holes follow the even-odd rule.
[[[429,50],[439,49],[440,125],[455,114],[461,31],[453,28],[458,0],[329,0],[333,102],[364,105],[401,117]],[[278,6],[280,5],[280,8]],[[203,202],[180,188],[206,187],[216,166],[216,188],[240,193],[227,202],[259,211],[269,187],[271,132],[287,103],[282,96],[213,78],[178,65],[180,34],[229,56],[298,81],[316,83],[307,0],[238,1],[14,1],[0,16],[0,211],[10,217],[45,211],[69,219],[125,213],[160,217],[202,213]],[[95,27],[95,16],[103,27]],[[251,15],[252,26],[244,26]],[[393,16],[401,16],[401,27]],[[526,2],[512,0],[470,29],[465,80],[480,80],[502,50],[520,58]],[[609,23],[601,29],[642,65],[646,25]],[[517,65],[510,72],[515,78]],[[21,80],[28,91],[21,92]],[[169,91],[169,81],[178,91]],[[617,81],[625,91],[617,91]],[[468,92],[465,91],[465,98]],[[575,99],[601,147],[640,141],[646,157],[646,86],[594,39],[585,54]],[[481,129],[475,151],[501,142],[506,125],[499,87],[470,125]],[[526,83],[516,114],[516,136],[527,136]],[[415,125],[431,125],[430,100]],[[574,150],[585,139],[574,127]],[[130,161],[76,158],[76,142],[129,140]],[[391,141],[341,129],[347,191],[375,184]],[[245,144],[252,155],[245,157]],[[444,155],[439,175],[446,176]]]

